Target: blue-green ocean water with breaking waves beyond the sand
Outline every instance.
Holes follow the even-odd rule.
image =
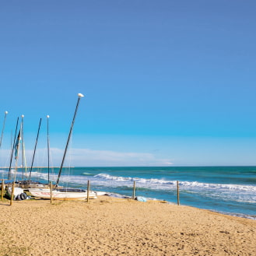
[[[54,183],[58,168],[50,173]],[[47,182],[47,168],[34,168],[31,179]],[[136,196],[170,203],[177,203],[179,181],[181,205],[256,219],[256,167],[75,167],[62,171],[60,185],[86,188],[87,181],[119,197],[131,197],[135,181]]]

